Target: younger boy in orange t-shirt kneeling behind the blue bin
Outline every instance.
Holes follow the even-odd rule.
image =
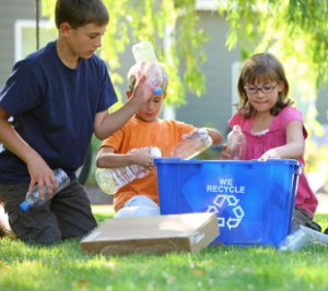
[[[162,104],[166,96],[168,76],[164,65],[160,65],[164,80],[162,95],[153,95],[147,104],[137,111],[136,116],[120,130],[103,141],[96,157],[99,168],[116,168],[129,165],[140,165],[148,169],[153,168],[151,156],[143,151],[127,154],[132,148],[156,146],[163,157],[168,157],[173,147],[181,136],[197,130],[194,125],[174,120],[157,119]],[[138,65],[128,72],[130,98],[136,89]],[[222,142],[223,137],[214,129],[207,129],[214,144]],[[159,215],[159,189],[155,169],[142,179],[138,179],[118,190],[114,196],[116,217]]]

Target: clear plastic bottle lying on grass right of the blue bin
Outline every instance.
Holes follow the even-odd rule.
[[[279,246],[281,252],[295,252],[309,244],[328,245],[328,235],[311,228],[300,226]]]

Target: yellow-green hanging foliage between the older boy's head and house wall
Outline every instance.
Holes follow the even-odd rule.
[[[186,89],[197,96],[204,92],[201,63],[206,61],[202,45],[207,36],[197,27],[195,0],[103,2],[109,11],[110,20],[99,54],[108,64],[114,85],[124,82],[117,69],[120,68],[120,56],[127,46],[139,40],[150,40],[171,76],[167,105],[184,104]],[[55,4],[56,0],[43,0],[43,15],[54,17]]]

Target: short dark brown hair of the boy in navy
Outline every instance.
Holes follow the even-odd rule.
[[[75,29],[89,23],[106,25],[109,15],[102,0],[57,0],[55,21],[58,29],[63,22]]]

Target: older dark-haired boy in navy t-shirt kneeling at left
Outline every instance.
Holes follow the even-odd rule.
[[[93,132],[103,140],[118,130],[151,96],[140,77],[128,104],[117,101],[105,63],[94,54],[109,16],[101,0],[57,0],[56,41],[17,62],[0,95],[0,201],[15,235],[51,244],[81,238],[94,227],[90,201],[74,171],[82,165]],[[8,122],[13,118],[13,123]],[[71,183],[44,207],[22,214],[19,205],[38,184],[50,196],[58,189],[52,170]]]

